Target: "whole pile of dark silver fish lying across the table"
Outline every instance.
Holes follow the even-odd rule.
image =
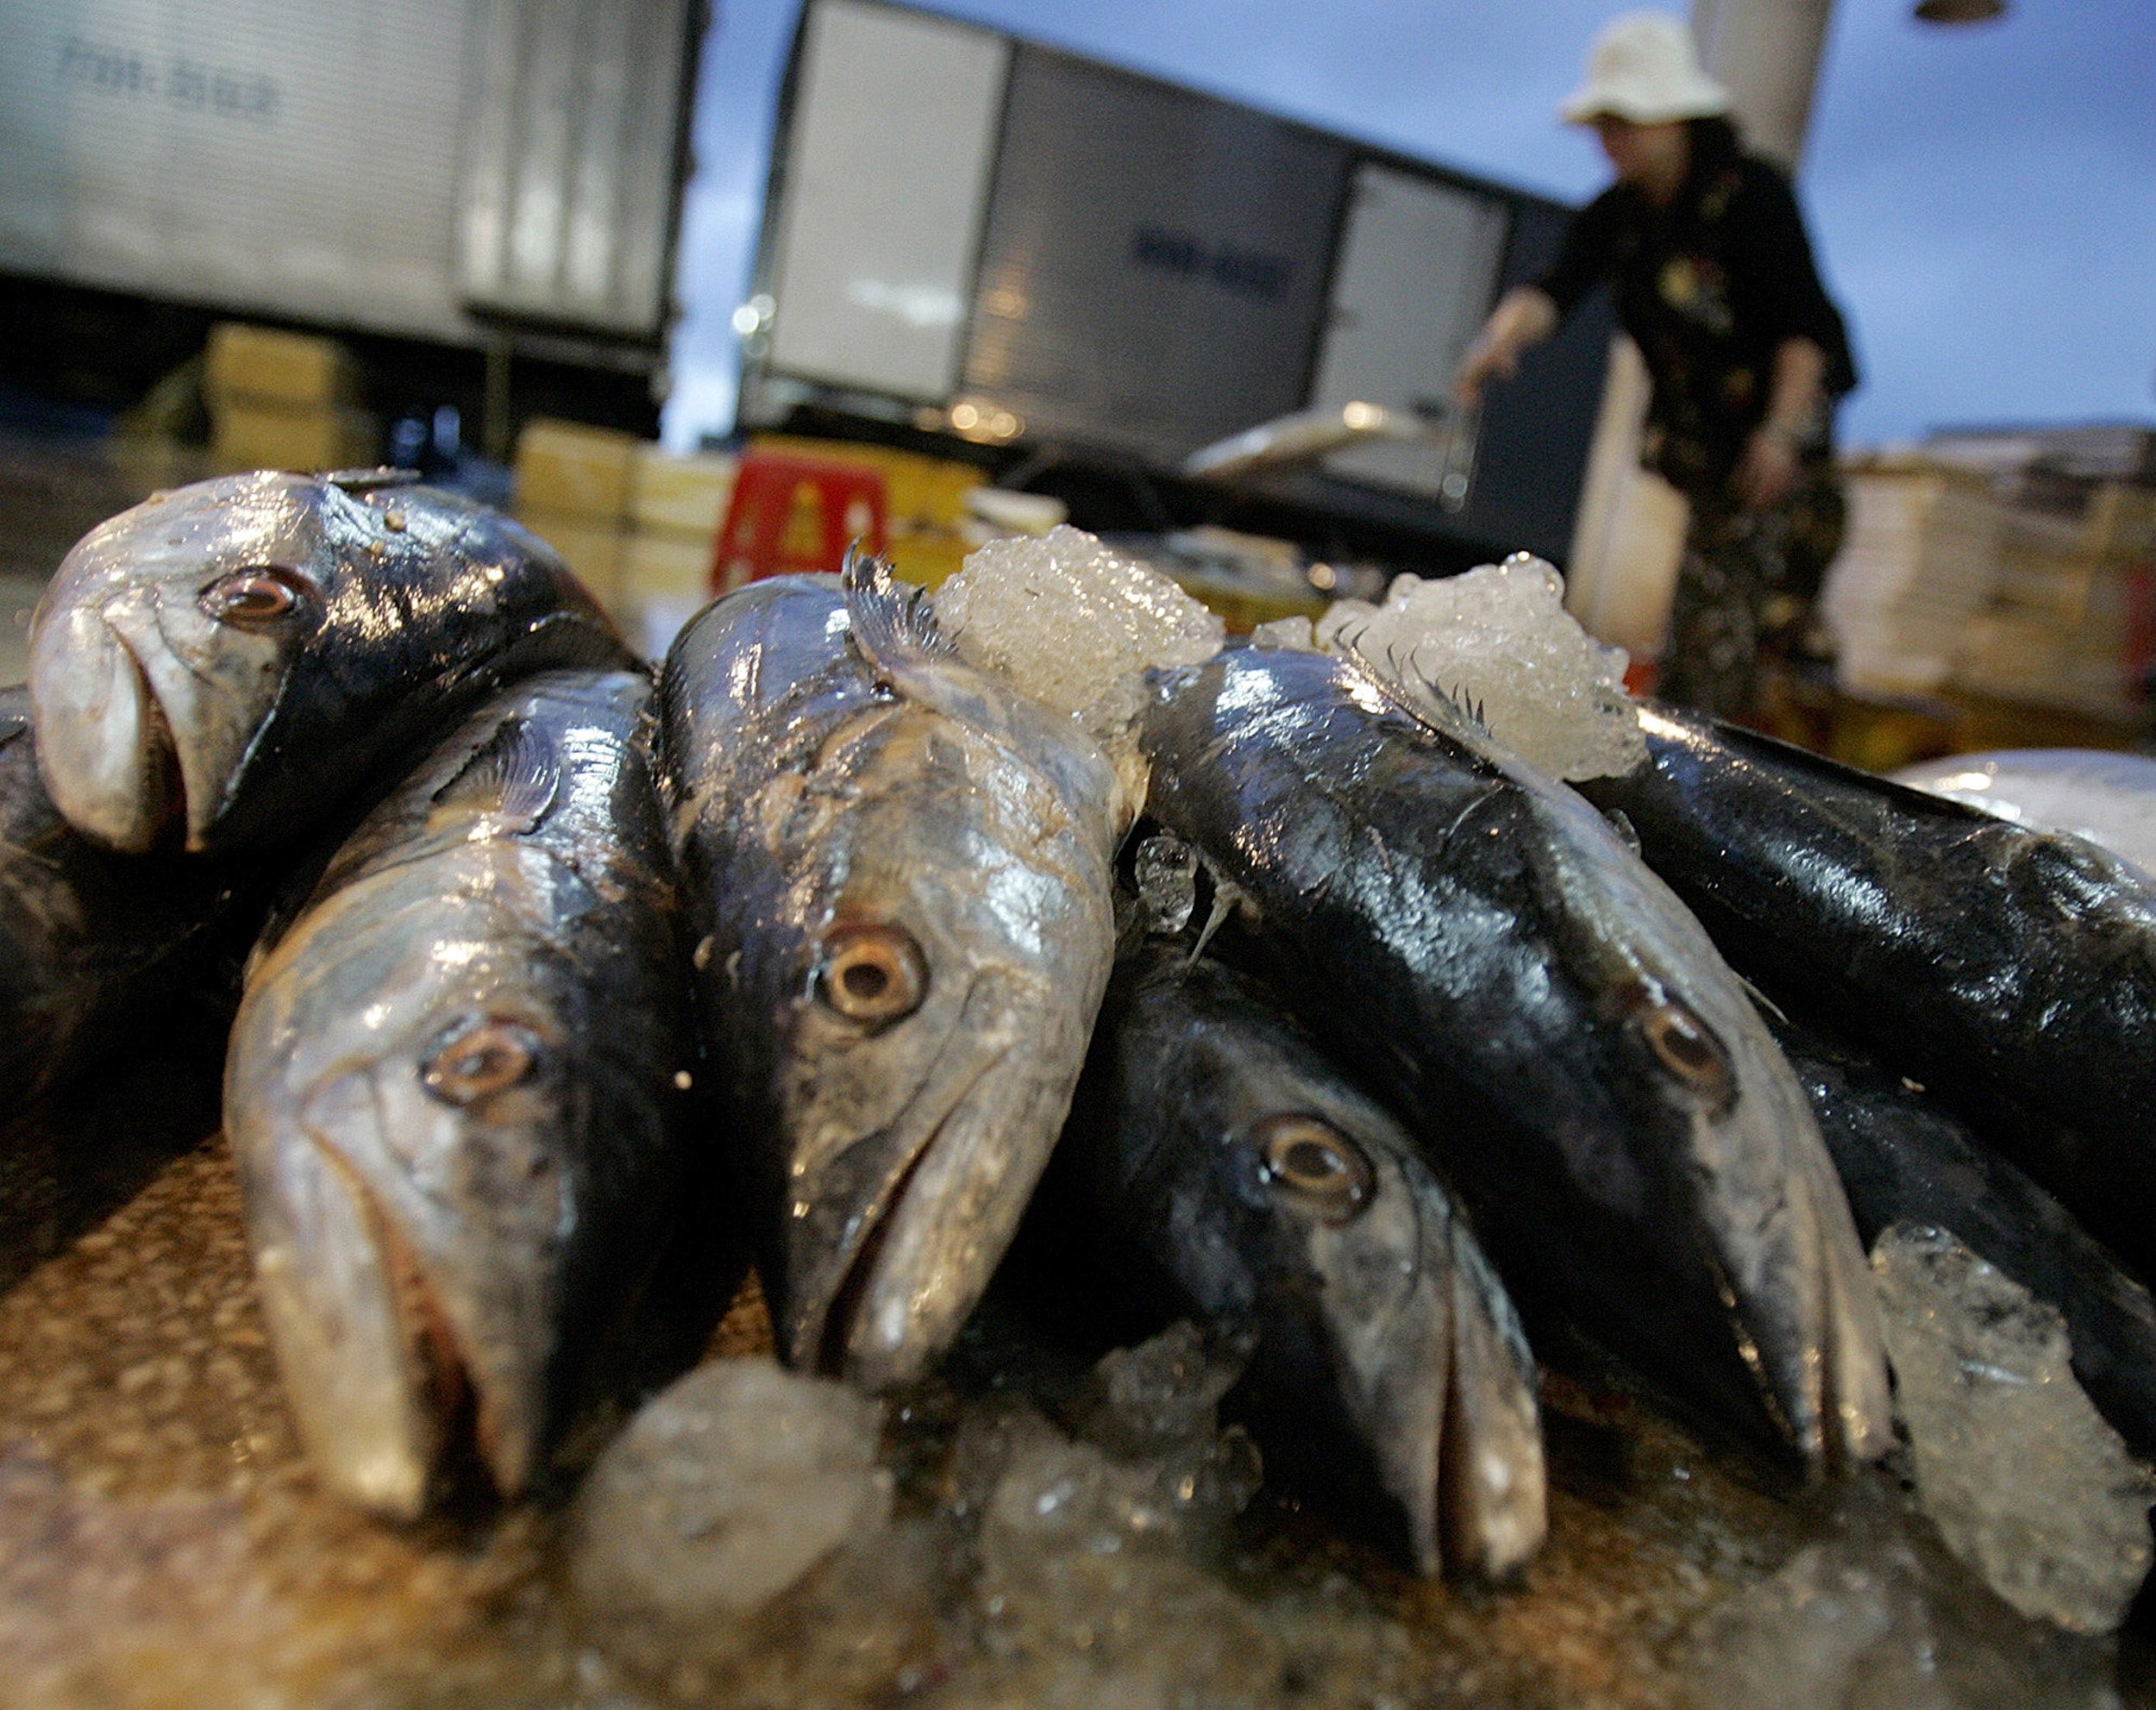
[[[545,1488],[662,1255],[735,1236],[780,1356],[873,1391],[1061,1244],[1244,1348],[1268,1464],[1423,1572],[1544,1537],[1544,1326],[1889,1453],[1895,1223],[2053,1302],[2156,1453],[2139,869],[1667,707],[1570,787],[1345,632],[1072,716],[940,610],[854,558],[651,673],[390,470],[60,565],[0,705],[6,1074],[252,936],[226,1132],[330,1488]]]

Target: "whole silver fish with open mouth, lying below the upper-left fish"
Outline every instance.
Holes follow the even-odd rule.
[[[248,970],[224,1126],[319,1479],[537,1488],[668,1236],[694,1078],[642,671],[498,690]]]

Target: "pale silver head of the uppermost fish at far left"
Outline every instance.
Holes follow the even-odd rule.
[[[121,511],[60,561],[30,697],[69,824],[132,854],[175,826],[205,847],[341,563],[384,533],[371,515],[328,481],[233,474]]]

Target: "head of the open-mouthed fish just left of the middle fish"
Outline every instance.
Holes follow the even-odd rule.
[[[418,1516],[466,1447],[517,1494],[604,1268],[576,1136],[619,1113],[571,1061],[545,947],[412,934],[267,1001],[306,936],[259,970],[226,1085],[285,1391],[317,1468],[373,1512]]]

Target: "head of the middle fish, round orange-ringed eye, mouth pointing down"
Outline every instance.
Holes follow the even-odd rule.
[[[987,1285],[1112,957],[1106,854],[1052,796],[953,789],[944,809],[867,811],[776,968],[765,1292],[791,1363],[871,1389],[927,1371]]]

